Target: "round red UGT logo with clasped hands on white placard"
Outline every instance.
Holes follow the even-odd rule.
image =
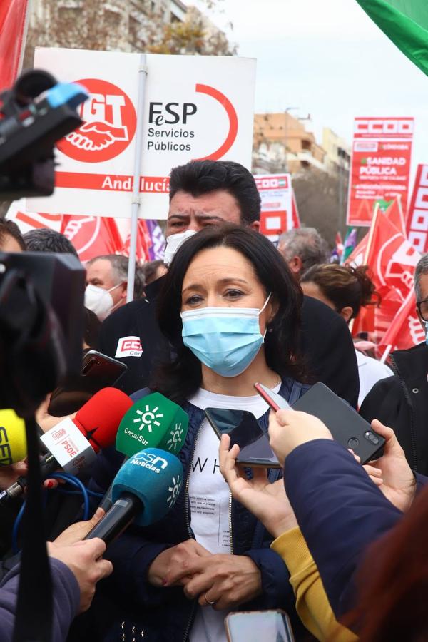
[[[136,111],[121,88],[98,78],[76,81],[90,96],[80,107],[83,125],[58,143],[75,161],[101,163],[122,153],[136,133]]]

